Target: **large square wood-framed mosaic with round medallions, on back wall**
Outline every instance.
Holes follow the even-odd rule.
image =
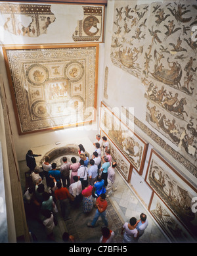
[[[3,47],[18,134],[93,122],[99,44]]]

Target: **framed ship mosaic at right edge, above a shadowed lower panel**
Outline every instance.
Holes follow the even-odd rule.
[[[145,181],[197,238],[197,213],[192,210],[192,198],[196,197],[197,190],[154,149],[150,153]]]

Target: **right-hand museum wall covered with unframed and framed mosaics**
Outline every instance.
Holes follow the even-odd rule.
[[[196,238],[196,8],[196,1],[108,1],[106,20],[100,128],[172,241],[179,228],[179,239]]]

